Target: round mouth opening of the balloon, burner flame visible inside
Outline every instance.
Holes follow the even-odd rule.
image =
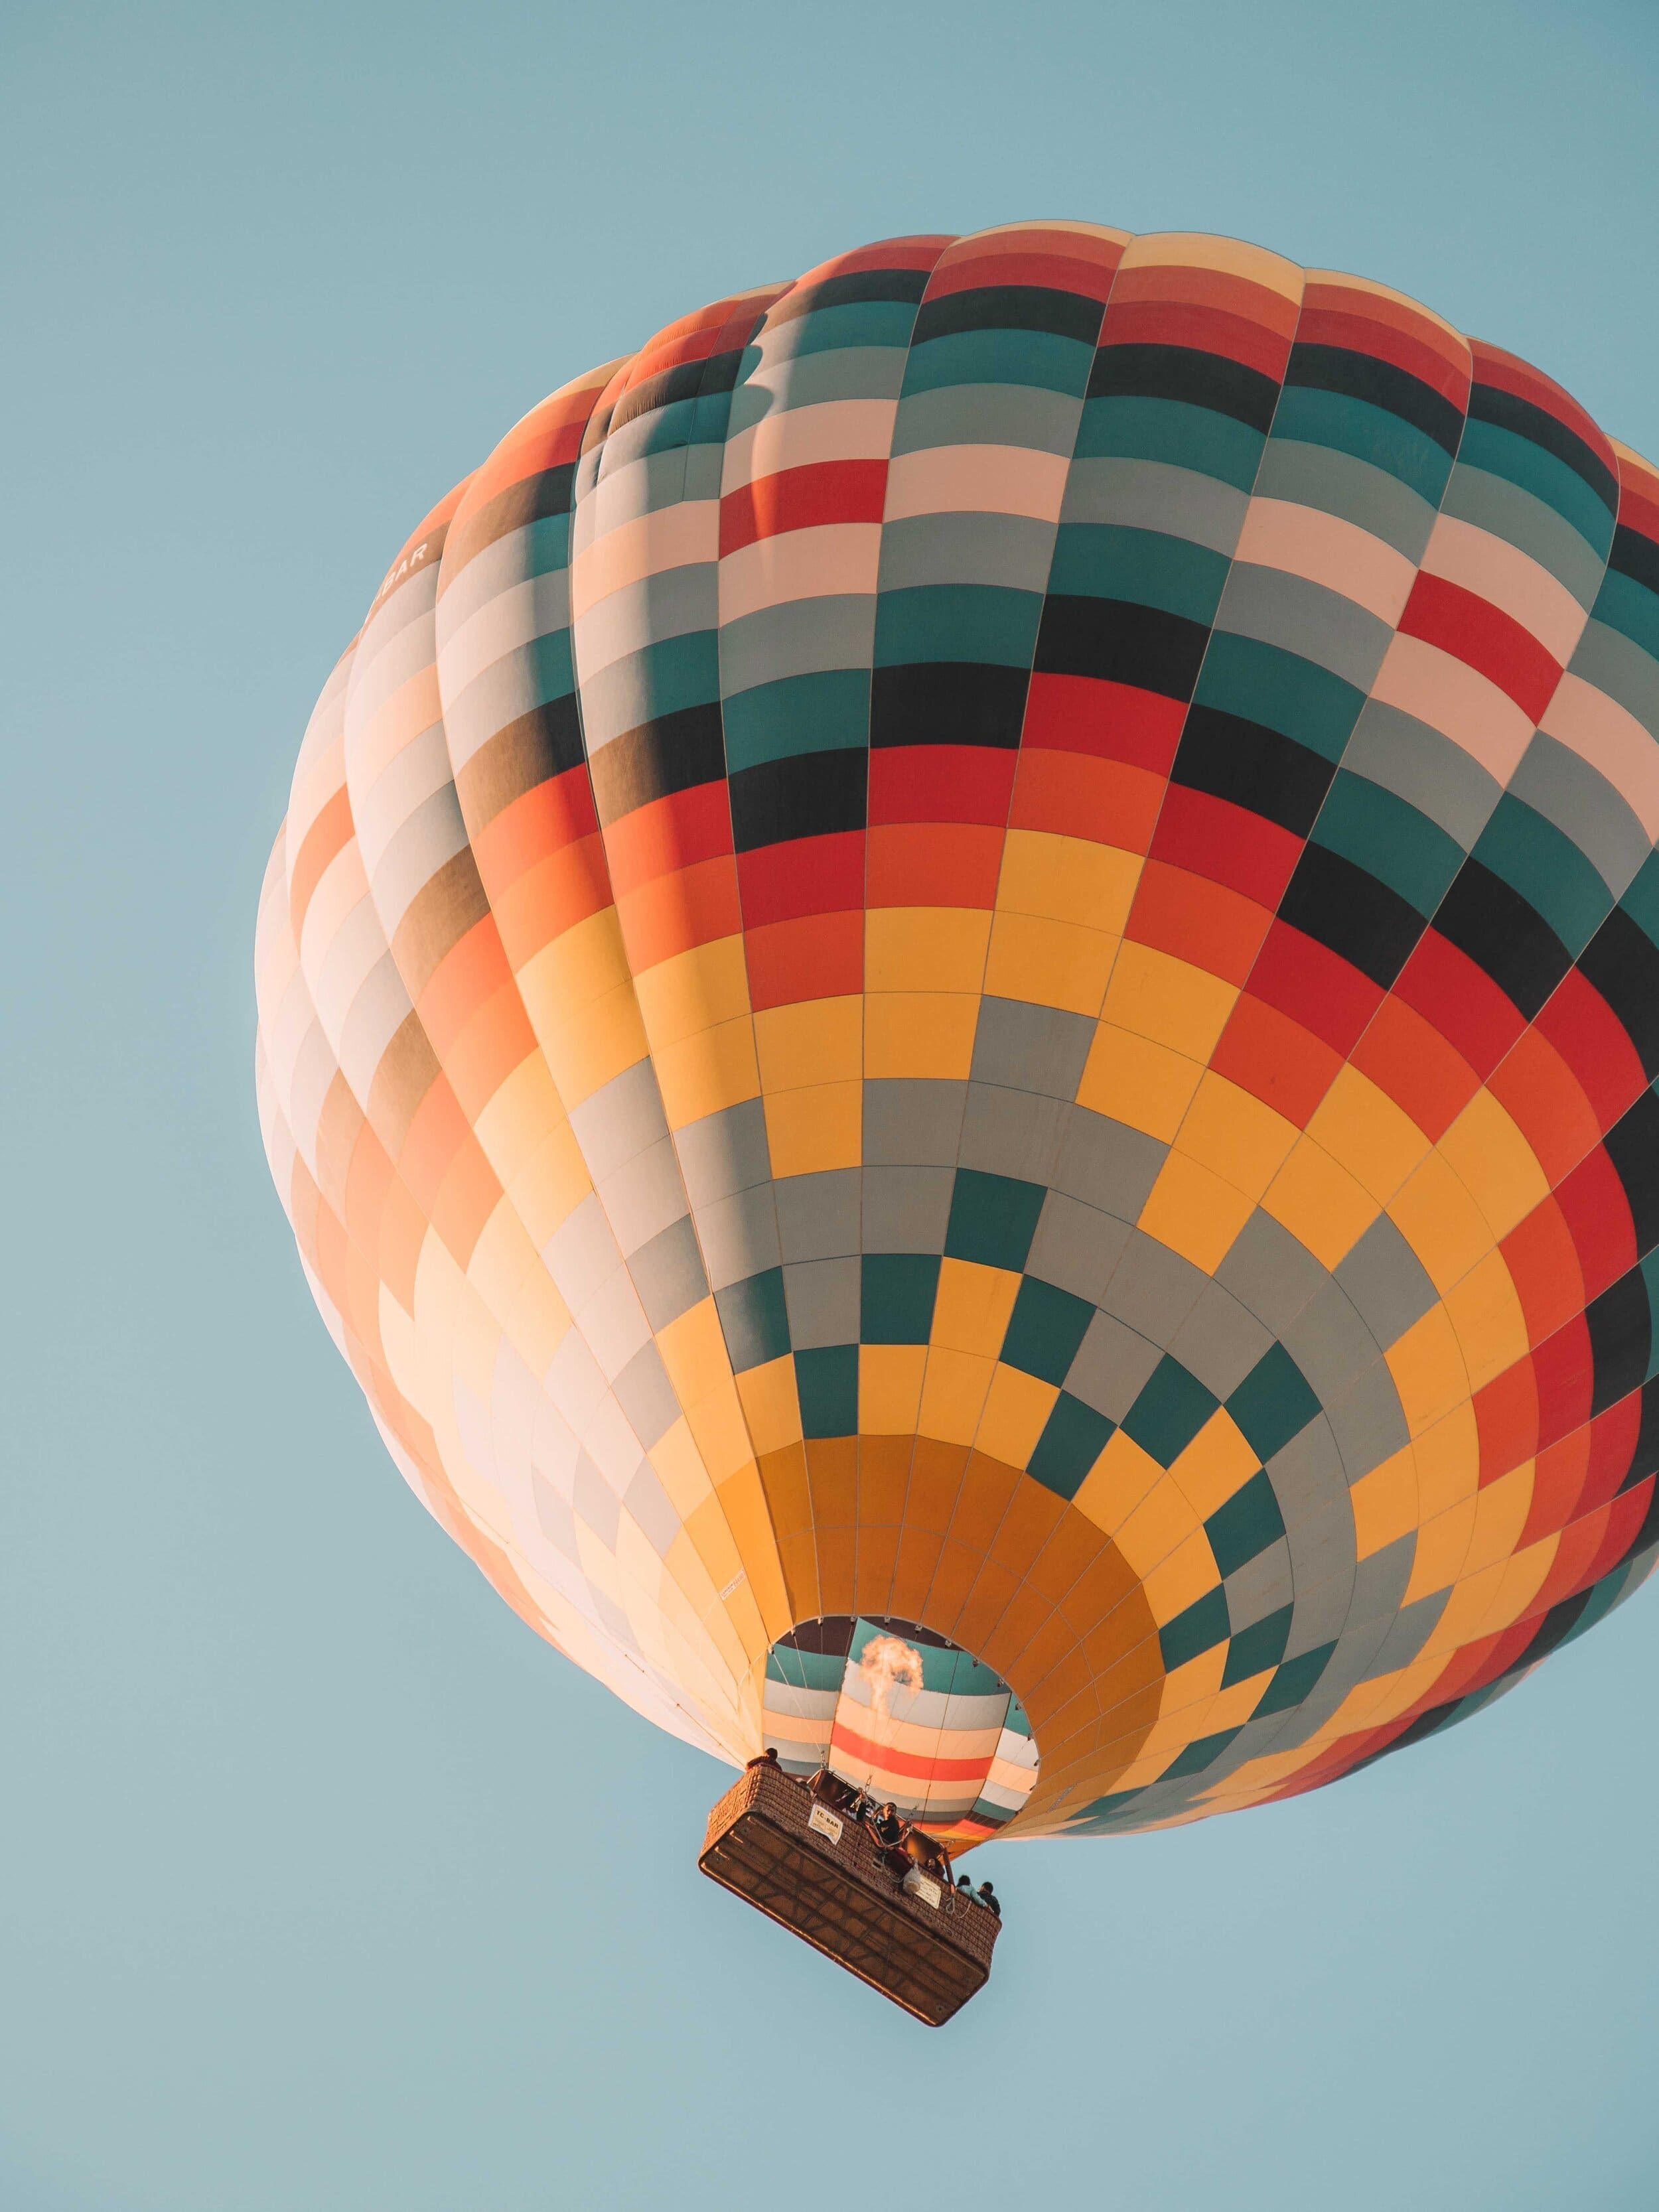
[[[763,1723],[785,1772],[830,1767],[956,1845],[1006,1827],[1037,1781],[1009,1683],[920,1621],[799,1621],[765,1657]]]

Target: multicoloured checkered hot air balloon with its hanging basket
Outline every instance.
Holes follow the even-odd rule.
[[[1548,376],[1221,237],[894,239],[403,546],[265,1146],[422,1504],[761,1761],[714,1856],[1194,1820],[1652,1566],[1657,838],[1659,476]]]

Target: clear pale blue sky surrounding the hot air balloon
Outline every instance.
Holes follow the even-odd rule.
[[[1321,1796],[991,1849],[929,2037],[697,1878],[721,1772],[387,1464],[250,936],[389,553],[672,314],[900,230],[1230,230],[1659,456],[1657,137],[1652,0],[0,13],[4,2212],[1652,2212],[1652,1586]]]

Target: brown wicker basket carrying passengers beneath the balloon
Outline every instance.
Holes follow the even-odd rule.
[[[714,1805],[697,1865],[929,2028],[991,1975],[1002,1922],[989,1907],[900,1878],[863,1820],[772,1761],[745,1767]]]

